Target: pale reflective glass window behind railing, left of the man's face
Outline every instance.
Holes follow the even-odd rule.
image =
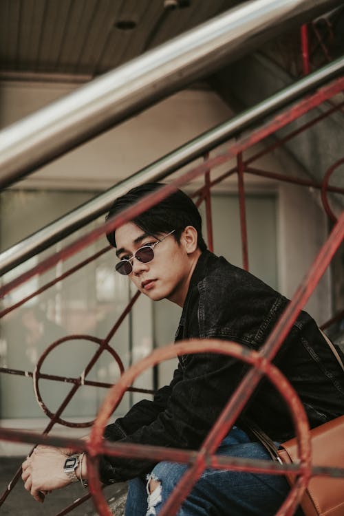
[[[93,196],[92,192],[65,191],[13,190],[1,193],[1,250],[12,246]],[[86,230],[90,227],[87,226]],[[83,231],[84,229],[79,230],[77,235],[70,235],[8,272],[1,278],[2,284],[39,263],[44,257],[52,255],[69,241],[74,241]],[[52,270],[34,277],[10,292],[4,298],[1,308],[8,308],[17,303],[41,288],[47,281],[62,275],[105,246],[107,241],[101,238],[67,261],[58,263]],[[73,275],[56,283],[1,319],[0,365],[16,373],[0,374],[1,418],[45,417],[36,400],[36,394],[41,395],[50,412],[55,413],[58,410],[99,347],[98,342],[76,338],[75,335],[105,338],[129,301],[129,281],[115,274],[115,262],[114,252],[106,252],[96,261],[80,268]],[[111,349],[118,354],[124,368],[127,368],[133,359],[136,360],[142,354],[151,351],[151,325],[144,324],[151,321],[151,305],[147,301],[138,301],[139,308],[135,308],[133,313],[126,317],[111,338]],[[69,338],[66,341],[53,346],[47,352],[52,343],[67,336]],[[132,353],[132,350],[135,350],[135,353]],[[112,385],[120,376],[116,354],[104,351],[98,358],[96,364],[85,375],[85,385],[78,388],[61,414],[63,419],[85,422],[94,418],[107,392],[107,389],[94,385]],[[35,394],[32,373],[42,355],[44,359],[38,369],[39,392]],[[47,375],[53,375],[54,379],[45,378]],[[67,380],[63,381],[64,378]],[[146,389],[151,388],[151,378],[151,372],[145,374],[138,380],[137,386],[140,387],[143,383]],[[140,396],[126,394],[118,407],[119,413],[127,411],[131,402]]]

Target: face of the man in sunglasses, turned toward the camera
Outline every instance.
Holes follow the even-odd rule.
[[[195,230],[192,226],[188,228],[191,230],[186,228],[183,231],[179,244],[173,235],[169,235],[155,246],[154,258],[148,264],[142,264],[136,258],[131,261],[133,270],[129,278],[138,290],[153,301],[166,298],[180,306],[184,304],[190,278],[200,255],[197,233],[195,244],[192,241]],[[164,236],[159,235],[160,239]],[[140,247],[158,241],[158,238],[147,235],[133,222],[127,222],[116,229],[115,237],[118,259],[131,258]]]

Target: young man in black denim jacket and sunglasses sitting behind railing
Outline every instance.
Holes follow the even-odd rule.
[[[132,189],[114,202],[108,217],[160,186],[146,184]],[[182,307],[176,341],[220,338],[257,350],[288,303],[259,279],[206,250],[200,213],[182,191],[107,237],[117,248],[116,270],[120,274],[128,275],[153,301],[169,299]],[[343,372],[316,323],[305,312],[299,315],[275,363],[297,390],[311,427],[344,413]],[[170,385],[158,390],[153,401],[138,402],[126,416],[110,424],[105,438],[198,449],[246,371],[246,365],[230,356],[180,356]],[[262,381],[217,453],[270,458],[250,435],[250,420],[277,443],[294,436],[285,403],[268,381]],[[65,460],[61,451],[38,447],[23,463],[25,488],[40,499],[47,491],[68,484],[69,471],[63,472]],[[80,467],[78,457],[72,460],[75,469],[70,476],[87,478],[85,461]],[[158,514],[184,471],[185,465],[168,462],[100,460],[103,482],[130,480],[127,516]],[[178,515],[273,515],[287,493],[288,485],[281,475],[206,470]]]

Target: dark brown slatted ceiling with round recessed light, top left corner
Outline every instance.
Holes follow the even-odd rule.
[[[89,79],[240,0],[1,0],[0,72]]]

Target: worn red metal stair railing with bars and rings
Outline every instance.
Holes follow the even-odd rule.
[[[338,78],[334,80],[329,85],[326,85],[319,89],[314,94],[300,100],[295,103],[292,107],[285,109],[283,112],[274,116],[268,122],[265,122],[261,127],[250,131],[250,133],[246,134],[239,138],[236,142],[230,145],[226,152],[223,152],[220,155],[217,155],[215,158],[209,158],[208,155],[204,157],[204,162],[199,166],[186,171],[180,175],[177,180],[173,180],[171,184],[164,186],[158,192],[153,193],[143,200],[138,202],[136,206],[128,208],[126,211],[123,211],[120,215],[114,217],[114,219],[109,220],[106,224],[99,226],[98,228],[89,231],[83,237],[78,238],[69,246],[66,246],[59,252],[54,255],[47,257],[40,264],[31,268],[23,275],[20,275],[16,279],[10,281],[8,284],[2,286],[0,288],[0,295],[5,296],[9,292],[11,292],[14,288],[17,288],[28,279],[34,277],[35,275],[41,275],[46,270],[55,266],[59,261],[65,261],[68,257],[75,255],[78,251],[85,248],[89,244],[91,244],[96,239],[103,237],[104,233],[117,228],[121,224],[129,221],[138,213],[141,213],[145,209],[149,208],[162,198],[168,196],[175,188],[181,186],[182,184],[186,184],[189,180],[196,178],[200,175],[204,175],[204,186],[202,189],[197,190],[194,193],[194,196],[197,197],[196,204],[199,205],[203,200],[206,204],[206,217],[207,217],[207,230],[208,230],[208,241],[209,247],[213,247],[213,239],[212,239],[212,228],[211,228],[211,188],[223,181],[225,178],[228,178],[230,175],[237,173],[238,176],[238,189],[239,189],[239,206],[240,206],[240,221],[241,221],[241,239],[242,239],[242,248],[243,248],[243,266],[248,269],[248,242],[247,242],[247,234],[246,234],[246,216],[245,216],[245,195],[244,195],[244,177],[246,173],[251,173],[255,175],[260,175],[266,178],[275,179],[279,181],[288,181],[293,184],[299,184],[300,186],[313,186],[316,189],[321,190],[321,197],[323,200],[323,206],[325,208],[326,213],[332,217],[332,219],[336,219],[334,213],[332,213],[332,209],[330,208],[330,204],[327,200],[327,192],[334,192],[338,194],[343,194],[344,189],[336,186],[330,186],[330,177],[334,170],[337,169],[338,166],[341,166],[344,162],[344,158],[338,160],[333,166],[330,167],[329,171],[325,173],[323,178],[323,182],[321,184],[311,181],[311,180],[300,180],[299,178],[291,178],[290,176],[272,173],[270,171],[264,171],[261,169],[257,169],[251,166],[252,162],[257,160],[264,155],[264,153],[268,153],[278,147],[279,145],[284,144],[286,141],[290,140],[297,136],[301,131],[308,129],[312,125],[320,122],[326,116],[330,116],[336,109],[341,109],[343,104],[336,105],[331,107],[326,111],[326,113],[321,114],[321,116],[316,116],[311,122],[307,122],[303,125],[303,127],[294,130],[289,133],[288,136],[284,136],[283,139],[279,140],[274,144],[270,144],[263,151],[259,151],[254,156],[244,160],[244,151],[252,147],[253,144],[264,140],[267,136],[275,133],[281,127],[285,127],[293,120],[296,120],[303,114],[312,110],[314,107],[320,105],[325,100],[330,99],[332,96],[338,94],[344,89],[344,78]],[[230,169],[226,173],[222,174],[219,178],[215,180],[211,180],[211,169],[219,164],[224,162],[228,162],[228,160],[236,158],[237,166],[235,168]],[[99,514],[101,515],[110,515],[111,512],[107,506],[107,502],[103,497],[100,482],[98,480],[98,469],[97,469],[97,457],[101,453],[107,453],[109,455],[114,456],[122,456],[122,457],[136,457],[136,458],[152,458],[153,460],[177,460],[178,462],[185,462],[189,464],[189,469],[185,473],[182,478],[180,484],[175,489],[173,495],[171,495],[168,502],[164,506],[161,515],[173,515],[178,510],[178,507],[182,503],[182,500],[188,495],[191,491],[191,488],[197,477],[204,471],[206,467],[213,468],[221,468],[221,469],[236,469],[238,471],[257,471],[257,473],[272,473],[272,474],[283,474],[286,471],[295,471],[295,473],[299,474],[297,479],[297,483],[295,484],[292,491],[288,495],[288,498],[278,511],[278,515],[292,515],[294,513],[294,509],[296,508],[299,499],[301,499],[302,493],[305,489],[305,486],[308,484],[308,480],[311,475],[326,473],[327,475],[344,475],[344,470],[339,469],[321,469],[312,466],[310,462],[310,442],[308,436],[308,422],[305,417],[305,413],[303,411],[303,407],[301,402],[299,402],[299,398],[297,398],[294,393],[292,387],[288,384],[287,380],[283,378],[281,373],[272,365],[271,361],[275,357],[275,354],[281,347],[284,338],[288,334],[290,327],[294,323],[299,311],[305,305],[305,302],[308,300],[310,295],[312,294],[316,284],[318,283],[321,275],[327,268],[328,264],[336,252],[336,249],[341,244],[344,236],[344,213],[338,218],[334,229],[330,237],[327,239],[323,248],[319,252],[319,255],[316,257],[314,264],[303,282],[299,290],[297,290],[294,295],[292,301],[288,305],[286,311],[282,314],[281,319],[275,326],[272,334],[268,338],[268,341],[261,348],[259,353],[256,352],[243,352],[242,348],[235,343],[218,343],[217,341],[200,341],[199,343],[179,343],[178,345],[164,347],[161,350],[156,350],[149,357],[144,358],[144,360],[130,367],[126,372],[124,372],[124,367],[122,365],[122,361],[116,351],[109,345],[111,338],[114,336],[118,327],[125,319],[125,316],[131,310],[133,303],[135,303],[138,298],[138,294],[136,294],[133,299],[131,299],[127,308],[125,308],[124,312],[119,317],[118,321],[111,328],[110,332],[105,336],[105,338],[96,338],[91,335],[71,335],[66,336],[64,338],[58,339],[52,343],[47,350],[43,352],[41,358],[36,365],[36,369],[34,372],[24,372],[16,369],[9,369],[6,367],[2,367],[0,372],[3,374],[14,374],[21,376],[28,376],[29,378],[33,378],[34,387],[36,391],[36,398],[41,405],[43,411],[50,418],[50,422],[43,431],[43,435],[39,436],[36,433],[32,432],[21,432],[14,431],[10,429],[0,429],[0,439],[10,440],[13,442],[32,442],[32,443],[40,443],[45,442],[47,444],[52,444],[55,446],[62,447],[74,447],[76,450],[86,451],[87,452],[87,466],[89,469],[89,491],[94,497],[94,502],[96,504],[96,508],[98,509]],[[109,250],[109,247],[104,248],[100,252],[93,255],[91,258],[81,261],[78,266],[75,266],[65,272],[63,275],[60,275],[58,278],[54,279],[54,281],[50,281],[45,286],[41,287],[36,292],[30,294],[30,296],[25,297],[19,303],[15,303],[14,305],[6,308],[0,313],[0,317],[8,314],[10,311],[18,308],[20,305],[23,305],[32,297],[40,294],[43,290],[50,288],[58,281],[62,281],[65,277],[72,274],[79,268],[85,266],[89,261],[96,259],[103,252]],[[336,318],[342,316],[342,314],[337,314]],[[334,318],[334,319],[336,319]],[[95,343],[98,348],[94,353],[94,356],[89,361],[84,371],[78,378],[65,378],[62,376],[56,375],[48,375],[41,373],[41,366],[43,362],[47,358],[47,356],[55,349],[58,345],[65,343],[69,339],[83,339],[86,341],[92,341]],[[109,416],[116,408],[118,402],[122,398],[122,395],[125,391],[140,391],[140,392],[151,392],[144,389],[134,389],[132,386],[133,380],[143,372],[147,367],[152,367],[165,360],[166,358],[170,358],[171,356],[176,356],[177,354],[187,354],[187,353],[195,353],[195,352],[221,352],[224,354],[230,354],[231,356],[235,356],[238,360],[242,360],[248,365],[250,365],[250,370],[246,374],[244,380],[242,380],[241,384],[237,387],[235,393],[232,398],[228,401],[228,405],[225,407],[222,415],[219,417],[217,422],[215,423],[211,433],[209,433],[208,437],[204,441],[202,448],[199,451],[185,451],[185,450],[171,450],[171,449],[163,449],[160,447],[144,447],[140,445],[128,445],[128,444],[120,444],[120,443],[104,443],[102,441],[103,429],[107,422]],[[120,370],[121,377],[118,383],[111,387],[109,394],[98,413],[98,416],[95,421],[89,421],[85,423],[72,423],[67,420],[61,418],[61,414],[63,410],[67,406],[68,402],[73,398],[76,394],[76,391],[83,387],[83,385],[92,385],[92,387],[110,387],[107,383],[95,382],[91,380],[87,380],[87,374],[96,363],[97,359],[103,352],[109,352],[111,356],[114,358],[118,365],[118,369]],[[224,458],[219,455],[214,455],[219,442],[221,442],[222,438],[228,432],[228,429],[233,425],[237,416],[244,408],[248,398],[254,391],[257,383],[261,379],[263,375],[268,376],[270,381],[275,385],[275,387],[279,390],[281,395],[285,398],[286,403],[290,409],[290,413],[292,419],[294,421],[295,430],[297,433],[297,437],[299,439],[299,454],[301,462],[299,466],[279,466],[278,464],[272,464],[266,461],[248,461],[248,460],[239,460],[233,458]],[[56,409],[55,412],[52,412],[47,408],[45,402],[43,402],[43,397],[41,396],[41,391],[39,388],[39,380],[48,379],[59,382],[66,382],[71,384],[71,389],[67,394],[67,397],[61,405]],[[63,424],[69,427],[89,427],[93,424],[91,439],[89,442],[83,442],[80,440],[72,440],[69,438],[57,438],[51,437],[47,434],[50,433],[52,428],[56,423]],[[14,488],[17,480],[21,475],[21,469],[18,469],[17,473],[12,478],[8,489],[3,493],[0,498],[0,506],[5,501],[6,497],[11,493]],[[89,495],[86,495],[82,499],[74,502],[71,506],[65,508],[59,515],[67,514],[74,507],[79,505],[85,499],[87,499]]]

